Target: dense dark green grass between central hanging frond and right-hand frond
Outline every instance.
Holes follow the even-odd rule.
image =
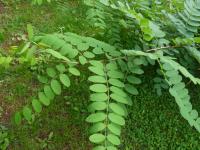
[[[174,98],[168,91],[158,97],[151,87],[148,84],[140,89],[140,95],[133,99],[123,135],[124,147],[128,150],[200,149],[199,133],[182,118]],[[195,88],[190,92],[193,106],[199,108],[199,88],[190,88]]]

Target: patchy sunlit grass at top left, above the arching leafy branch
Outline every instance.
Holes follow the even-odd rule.
[[[35,33],[75,32],[93,35],[85,20],[86,8],[81,0],[68,0],[41,6],[30,2],[7,1],[0,14],[0,46],[18,44],[17,38],[26,35],[27,24],[32,24]],[[11,40],[12,39],[12,40]]]

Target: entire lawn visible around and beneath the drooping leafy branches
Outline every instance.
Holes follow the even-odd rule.
[[[29,2],[0,1],[0,53],[12,53],[11,46],[20,43],[26,25],[36,33],[75,32],[94,36],[85,19],[86,7],[79,0],[33,6]],[[0,73],[0,126],[7,133],[9,150],[90,150],[87,117],[88,84],[86,76],[75,79],[71,90],[56,97],[35,118],[32,125],[13,123],[13,114],[39,91],[33,72],[15,66]],[[148,70],[147,70],[148,72]],[[87,74],[87,73],[86,73]],[[182,118],[175,100],[164,92],[158,97],[153,82],[143,79],[144,89],[134,97],[127,124],[123,129],[121,150],[198,150],[199,134]],[[86,87],[85,87],[86,86]],[[190,86],[190,85],[189,85]],[[199,90],[191,86],[194,106],[200,106]],[[1,141],[1,136],[0,136]]]

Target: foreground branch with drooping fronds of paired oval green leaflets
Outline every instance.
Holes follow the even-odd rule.
[[[80,76],[76,67],[78,64],[75,61],[76,57],[81,65],[89,63],[88,69],[94,75],[90,76],[88,80],[94,83],[90,86],[90,90],[94,93],[90,95],[92,103],[88,108],[92,114],[88,116],[86,121],[94,124],[90,129],[92,135],[89,139],[93,143],[100,144],[96,148],[109,149],[120,144],[118,137],[121,133],[120,126],[125,124],[124,117],[127,115],[125,105],[131,105],[130,95],[138,94],[133,85],[141,83],[140,79],[132,74],[143,74],[141,65],[147,65],[148,61],[153,64],[155,64],[155,60],[160,62],[163,76],[172,87],[170,93],[176,98],[181,114],[191,126],[199,129],[198,114],[196,110],[192,110],[189,102],[190,97],[187,95],[188,91],[181,83],[182,77],[178,75],[177,71],[180,71],[194,84],[199,84],[200,79],[195,78],[172,58],[163,56],[162,53],[149,54],[130,50],[121,53],[106,43],[72,33],[49,34],[35,37],[35,39],[40,43],[39,46],[45,46],[45,49],[41,50],[41,55],[53,59],[54,62],[58,61],[60,64],[50,63],[51,67],[47,66],[47,68],[42,69],[43,74],[39,75],[38,79],[44,84],[44,90],[38,93],[38,99],[33,99],[32,109],[36,114],[40,113],[43,106],[50,105],[55,95],[60,95],[64,87],[70,86],[69,76]],[[95,55],[102,55],[101,57],[105,55],[108,62],[106,59],[94,60]],[[132,55],[136,57],[132,57]],[[150,60],[145,59],[144,56]],[[121,70],[122,68],[123,70]],[[183,95],[175,94],[175,91]],[[16,123],[21,122],[22,115],[28,122],[32,122],[34,120],[32,109],[30,106],[25,106],[21,113],[17,112],[15,115]]]

